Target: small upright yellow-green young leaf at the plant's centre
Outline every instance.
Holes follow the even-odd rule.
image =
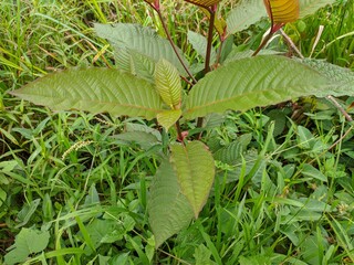
[[[155,68],[155,84],[158,94],[170,108],[179,108],[181,100],[181,84],[177,68],[162,59]]]

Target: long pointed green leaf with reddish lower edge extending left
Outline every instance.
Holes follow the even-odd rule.
[[[50,74],[11,94],[55,110],[74,108],[147,119],[163,110],[163,102],[150,83],[108,68]]]

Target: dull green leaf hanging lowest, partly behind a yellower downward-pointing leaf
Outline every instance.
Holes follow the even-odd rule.
[[[192,210],[180,192],[176,172],[168,160],[163,160],[154,177],[147,211],[156,248],[186,227],[192,219]]]

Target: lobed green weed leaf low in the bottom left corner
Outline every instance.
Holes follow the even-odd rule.
[[[23,263],[30,254],[42,252],[48,246],[49,239],[48,231],[22,229],[15,236],[11,251],[4,255],[6,264]]]

